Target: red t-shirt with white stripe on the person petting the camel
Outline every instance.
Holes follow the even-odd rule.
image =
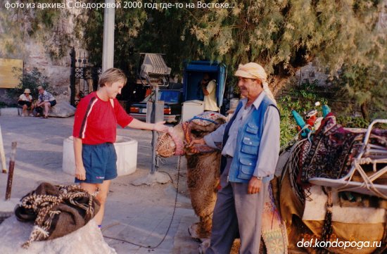
[[[114,143],[117,124],[123,128],[132,120],[117,99],[102,101],[92,92],[78,103],[72,136],[82,139],[82,144]]]

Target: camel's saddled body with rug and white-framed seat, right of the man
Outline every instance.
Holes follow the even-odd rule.
[[[343,128],[330,113],[314,134],[281,154],[279,203],[289,252],[300,251],[300,239],[364,243],[303,248],[307,253],[386,250],[387,131],[374,129],[376,122],[387,120],[368,129]]]

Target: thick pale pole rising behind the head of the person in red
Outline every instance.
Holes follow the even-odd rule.
[[[114,4],[114,0],[105,0],[108,6]],[[102,72],[113,67],[114,60],[114,17],[115,8],[105,8],[103,13],[103,51]]]

